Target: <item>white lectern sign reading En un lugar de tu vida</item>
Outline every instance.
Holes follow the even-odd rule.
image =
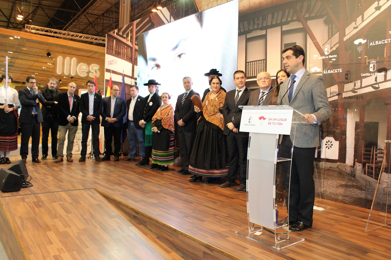
[[[242,111],[240,132],[291,134],[293,109],[260,109]]]

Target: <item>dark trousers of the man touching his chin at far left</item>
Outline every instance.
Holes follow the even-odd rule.
[[[27,158],[29,155],[29,140],[31,136],[31,157],[38,158],[39,154],[39,132],[41,132],[41,124],[38,122],[38,115],[31,117],[30,123],[21,123],[22,136],[20,139],[20,156]]]

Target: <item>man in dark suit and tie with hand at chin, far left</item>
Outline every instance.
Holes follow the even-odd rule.
[[[46,101],[41,91],[38,91],[37,82],[34,77],[27,76],[25,89],[19,91],[19,101],[22,105],[20,110],[19,123],[22,128],[20,140],[20,156],[26,162],[29,155],[29,140],[31,136],[31,157],[32,162],[40,163],[39,153],[39,131],[43,122],[43,116],[39,102],[42,105],[55,105],[56,101]]]

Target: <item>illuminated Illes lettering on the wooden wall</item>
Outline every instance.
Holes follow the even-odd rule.
[[[90,76],[91,78],[95,77],[95,71],[97,77],[99,77],[99,65],[98,64],[91,64],[88,65],[84,62],[77,63],[76,58],[70,58],[66,57],[65,59],[61,56],[57,57],[57,74],[62,75],[65,74],[66,76],[74,77],[87,77]]]

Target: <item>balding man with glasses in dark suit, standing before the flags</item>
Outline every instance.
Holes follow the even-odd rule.
[[[119,97],[117,85],[111,87],[111,96],[103,98],[102,126],[104,127],[104,145],[106,147],[103,161],[109,161],[113,151],[111,142],[114,136],[114,162],[118,162],[121,149],[121,129],[126,115],[126,101]]]

